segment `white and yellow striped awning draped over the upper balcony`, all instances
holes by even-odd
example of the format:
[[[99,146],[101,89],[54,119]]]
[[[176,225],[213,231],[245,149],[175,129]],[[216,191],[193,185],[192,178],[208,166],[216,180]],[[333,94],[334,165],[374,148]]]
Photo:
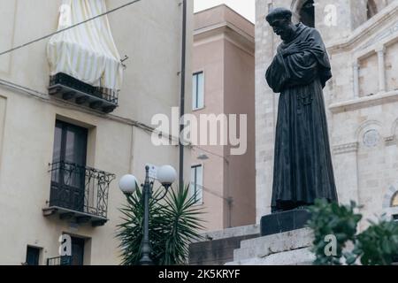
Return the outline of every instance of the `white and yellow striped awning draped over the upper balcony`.
[[[105,0],[63,0],[58,31],[105,11]],[[123,66],[106,16],[55,34],[47,55],[51,75],[66,73],[95,87],[121,88]]]

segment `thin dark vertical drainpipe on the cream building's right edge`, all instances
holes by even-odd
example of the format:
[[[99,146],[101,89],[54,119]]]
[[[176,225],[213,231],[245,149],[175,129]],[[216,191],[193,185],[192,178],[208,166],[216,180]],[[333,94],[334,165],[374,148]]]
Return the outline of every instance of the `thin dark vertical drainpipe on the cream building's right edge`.
[[[182,50],[181,50],[181,91],[180,91],[180,118],[185,114],[185,66],[187,53],[187,0],[182,0]],[[180,134],[184,126],[180,124]],[[180,143],[180,191],[184,188],[184,145]]]

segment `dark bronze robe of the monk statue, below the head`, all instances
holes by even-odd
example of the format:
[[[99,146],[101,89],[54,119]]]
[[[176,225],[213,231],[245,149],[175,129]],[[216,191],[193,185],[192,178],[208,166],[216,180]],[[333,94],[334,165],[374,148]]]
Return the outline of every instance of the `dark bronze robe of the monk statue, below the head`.
[[[332,78],[325,44],[318,31],[298,24],[291,42],[282,42],[266,80],[280,93],[275,141],[272,211],[337,202],[325,115],[323,88]],[[283,56],[291,44],[309,48]]]

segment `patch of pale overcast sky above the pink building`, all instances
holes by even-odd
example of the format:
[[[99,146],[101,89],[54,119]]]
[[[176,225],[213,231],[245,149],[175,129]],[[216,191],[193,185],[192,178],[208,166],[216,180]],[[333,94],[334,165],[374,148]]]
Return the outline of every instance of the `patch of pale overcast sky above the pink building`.
[[[255,22],[256,0],[195,0],[195,12],[203,11],[218,4],[226,4],[246,19],[249,19],[253,23]]]

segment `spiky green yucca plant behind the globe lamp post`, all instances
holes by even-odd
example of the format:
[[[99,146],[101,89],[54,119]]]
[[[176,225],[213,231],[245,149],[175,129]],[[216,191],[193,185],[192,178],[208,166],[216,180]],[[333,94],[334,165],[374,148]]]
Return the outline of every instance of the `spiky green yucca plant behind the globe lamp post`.
[[[188,244],[201,238],[203,212],[195,206],[195,196],[189,196],[189,186],[170,190],[164,201],[157,190],[149,200],[150,258],[157,265],[187,264]],[[123,223],[118,226],[122,264],[137,265],[141,259],[144,205],[142,190],[127,196],[127,204],[120,210]]]

